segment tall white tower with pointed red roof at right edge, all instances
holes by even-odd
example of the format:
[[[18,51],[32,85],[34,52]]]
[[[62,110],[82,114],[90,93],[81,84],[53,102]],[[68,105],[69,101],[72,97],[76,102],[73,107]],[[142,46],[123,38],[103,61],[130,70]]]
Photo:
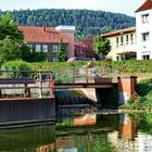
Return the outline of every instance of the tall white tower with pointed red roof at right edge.
[[[137,60],[152,59],[152,0],[136,11]]]

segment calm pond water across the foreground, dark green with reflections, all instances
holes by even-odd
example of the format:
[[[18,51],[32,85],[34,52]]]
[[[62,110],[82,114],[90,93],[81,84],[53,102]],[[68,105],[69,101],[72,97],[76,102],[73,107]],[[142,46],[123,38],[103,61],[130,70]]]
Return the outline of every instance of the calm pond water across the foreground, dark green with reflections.
[[[64,107],[55,125],[0,129],[0,152],[152,152],[152,114]]]

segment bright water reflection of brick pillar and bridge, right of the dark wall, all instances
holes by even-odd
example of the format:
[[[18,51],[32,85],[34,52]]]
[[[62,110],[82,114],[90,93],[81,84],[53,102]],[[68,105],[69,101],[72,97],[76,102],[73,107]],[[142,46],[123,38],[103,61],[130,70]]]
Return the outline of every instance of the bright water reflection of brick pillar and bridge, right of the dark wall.
[[[152,114],[67,113],[58,117],[58,152],[152,152]]]

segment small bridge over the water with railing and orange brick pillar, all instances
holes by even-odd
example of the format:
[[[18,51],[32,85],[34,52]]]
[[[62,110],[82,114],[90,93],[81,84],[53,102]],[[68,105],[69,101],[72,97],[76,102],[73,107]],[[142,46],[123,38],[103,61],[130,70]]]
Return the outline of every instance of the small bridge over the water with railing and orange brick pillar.
[[[111,91],[116,88],[119,104],[124,104],[135,94],[135,86],[137,83],[136,76],[121,77],[118,76],[119,72],[112,69],[104,69],[99,73],[94,68],[74,68],[71,71],[63,69],[54,74],[55,90],[84,89],[88,98],[97,101],[98,97],[100,97],[101,100],[102,96],[103,100],[105,96],[109,97]]]

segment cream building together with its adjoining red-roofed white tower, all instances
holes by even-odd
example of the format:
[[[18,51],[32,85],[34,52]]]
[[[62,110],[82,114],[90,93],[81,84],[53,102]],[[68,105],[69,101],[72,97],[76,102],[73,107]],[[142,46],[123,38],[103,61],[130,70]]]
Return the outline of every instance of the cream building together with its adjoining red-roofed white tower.
[[[136,27],[102,35],[111,41],[107,58],[112,60],[152,59],[152,0],[145,0],[136,11]]]

